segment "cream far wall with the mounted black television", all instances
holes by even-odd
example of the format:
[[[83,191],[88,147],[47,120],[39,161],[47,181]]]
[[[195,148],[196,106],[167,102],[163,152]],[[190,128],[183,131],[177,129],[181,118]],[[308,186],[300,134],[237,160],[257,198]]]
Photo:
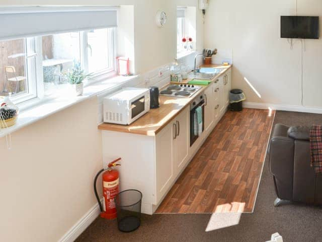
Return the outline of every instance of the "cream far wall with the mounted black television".
[[[322,16],[319,0],[297,0],[299,15]],[[212,0],[206,14],[204,46],[232,52],[233,87],[248,102],[301,105],[301,44],[280,38],[280,16],[294,15],[295,0]],[[303,104],[322,108],[322,39],[305,40]],[[260,96],[245,81],[258,91]]]

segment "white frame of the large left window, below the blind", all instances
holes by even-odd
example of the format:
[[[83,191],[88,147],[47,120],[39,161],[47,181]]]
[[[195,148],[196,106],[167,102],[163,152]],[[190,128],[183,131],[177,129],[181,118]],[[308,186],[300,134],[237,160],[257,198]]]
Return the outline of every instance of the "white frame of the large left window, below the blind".
[[[85,82],[85,86],[100,81],[102,78],[112,77],[116,75],[116,28],[108,29],[108,48],[109,48],[109,68],[93,73],[93,78]],[[88,31],[75,31],[79,33],[79,51],[81,67],[88,73],[88,47],[87,33]],[[43,66],[42,66],[42,36],[25,37],[25,69],[26,69],[26,89],[27,93],[12,96],[11,100],[15,104],[24,105],[32,101],[40,101],[44,98],[44,83],[43,83]]]

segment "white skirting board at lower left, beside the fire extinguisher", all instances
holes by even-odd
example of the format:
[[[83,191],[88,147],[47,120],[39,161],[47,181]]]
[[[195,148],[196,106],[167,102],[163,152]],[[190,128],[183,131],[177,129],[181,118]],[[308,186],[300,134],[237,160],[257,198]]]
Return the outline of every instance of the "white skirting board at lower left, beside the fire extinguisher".
[[[101,199],[103,202],[103,199]],[[73,242],[85,229],[100,215],[99,204],[94,205],[81,219],[79,219],[74,226],[72,226],[58,242]]]

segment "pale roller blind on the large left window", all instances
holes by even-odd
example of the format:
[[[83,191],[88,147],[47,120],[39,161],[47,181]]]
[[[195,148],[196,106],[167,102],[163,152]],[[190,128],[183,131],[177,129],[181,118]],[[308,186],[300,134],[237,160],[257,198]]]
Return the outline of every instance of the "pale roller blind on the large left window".
[[[75,30],[117,27],[117,11],[106,7],[0,8],[0,40]]]

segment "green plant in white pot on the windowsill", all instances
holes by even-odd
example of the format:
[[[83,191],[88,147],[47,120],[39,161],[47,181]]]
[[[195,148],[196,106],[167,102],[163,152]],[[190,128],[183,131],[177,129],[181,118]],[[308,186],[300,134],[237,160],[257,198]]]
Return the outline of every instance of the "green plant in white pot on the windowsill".
[[[92,77],[92,73],[86,74],[84,70],[81,68],[81,64],[76,63],[73,65],[71,70],[68,70],[63,74],[66,78],[67,82],[71,85],[71,92],[75,96],[79,96],[83,94],[85,79],[90,79]]]

